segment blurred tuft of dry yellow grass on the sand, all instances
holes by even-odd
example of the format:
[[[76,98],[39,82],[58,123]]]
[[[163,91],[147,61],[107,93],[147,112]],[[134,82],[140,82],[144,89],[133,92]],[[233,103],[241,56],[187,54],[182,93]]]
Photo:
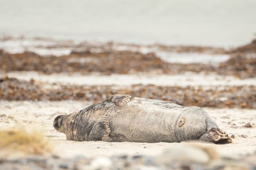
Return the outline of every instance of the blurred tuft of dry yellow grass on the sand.
[[[0,139],[0,150],[23,152],[28,155],[42,155],[52,152],[51,143],[37,129],[31,132],[26,131],[22,127],[19,129],[1,130]]]

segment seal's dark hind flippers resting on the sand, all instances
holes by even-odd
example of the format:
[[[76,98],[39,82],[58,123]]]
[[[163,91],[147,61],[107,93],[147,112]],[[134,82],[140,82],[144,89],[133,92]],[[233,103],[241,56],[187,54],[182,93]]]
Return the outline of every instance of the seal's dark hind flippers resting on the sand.
[[[205,134],[203,134],[199,140],[213,142],[216,144],[232,143],[232,139],[228,134],[221,129],[211,128]]]

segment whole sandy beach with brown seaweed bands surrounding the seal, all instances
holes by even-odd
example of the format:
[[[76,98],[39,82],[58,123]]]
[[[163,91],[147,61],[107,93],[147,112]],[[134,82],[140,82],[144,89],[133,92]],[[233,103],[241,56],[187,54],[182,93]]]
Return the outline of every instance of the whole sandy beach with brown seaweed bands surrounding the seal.
[[[160,157],[166,150],[197,143],[68,141],[52,126],[56,116],[79,111],[113,94],[200,106],[233,138],[233,143],[207,147],[232,160],[255,153],[256,58],[255,53],[243,51],[248,46],[228,51],[204,46],[145,47],[124,43],[74,45],[63,41],[63,45],[40,40],[37,47],[31,42],[18,43],[19,48],[13,48],[20,50],[17,53],[6,48],[6,41],[15,46],[15,41],[28,40],[2,41],[0,128],[40,129],[40,134],[51,142],[54,157],[72,161],[86,157],[92,162],[113,156]],[[60,46],[65,53],[59,53]]]

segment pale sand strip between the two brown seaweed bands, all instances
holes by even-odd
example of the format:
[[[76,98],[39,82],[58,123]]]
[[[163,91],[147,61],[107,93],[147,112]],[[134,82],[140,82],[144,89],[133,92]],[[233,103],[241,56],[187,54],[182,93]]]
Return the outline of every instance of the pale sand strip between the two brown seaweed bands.
[[[0,76],[10,76],[20,80],[47,83],[61,83],[69,85],[134,85],[154,84],[170,86],[239,86],[256,85],[256,78],[239,79],[234,76],[221,76],[218,74],[184,73],[184,74],[111,74],[111,75],[82,75],[79,73],[42,74],[36,71],[13,71],[0,73]]]

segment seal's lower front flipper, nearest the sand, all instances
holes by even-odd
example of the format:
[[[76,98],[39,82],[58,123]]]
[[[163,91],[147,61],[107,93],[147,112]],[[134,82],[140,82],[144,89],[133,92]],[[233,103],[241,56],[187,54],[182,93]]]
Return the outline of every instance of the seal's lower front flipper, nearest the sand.
[[[109,122],[102,121],[93,125],[92,130],[88,136],[88,141],[109,141]]]

